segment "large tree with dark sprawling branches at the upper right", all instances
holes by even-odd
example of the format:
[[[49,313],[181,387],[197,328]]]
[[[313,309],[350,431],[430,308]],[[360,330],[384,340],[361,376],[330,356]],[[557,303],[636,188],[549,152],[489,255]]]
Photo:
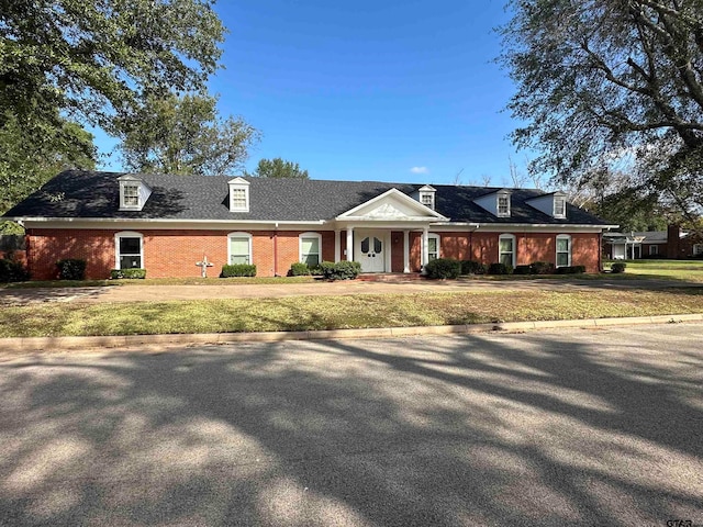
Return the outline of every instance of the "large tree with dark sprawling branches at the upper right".
[[[513,139],[535,171],[633,175],[689,216],[703,206],[703,0],[511,0],[501,61]]]

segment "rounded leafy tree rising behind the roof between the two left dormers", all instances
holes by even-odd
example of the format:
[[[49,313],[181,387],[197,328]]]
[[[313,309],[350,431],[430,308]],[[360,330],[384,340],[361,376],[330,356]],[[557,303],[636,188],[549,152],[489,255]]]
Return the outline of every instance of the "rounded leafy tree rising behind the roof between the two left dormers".
[[[123,161],[141,172],[220,175],[242,168],[259,133],[241,117],[222,119],[204,93],[147,97],[122,120]]]

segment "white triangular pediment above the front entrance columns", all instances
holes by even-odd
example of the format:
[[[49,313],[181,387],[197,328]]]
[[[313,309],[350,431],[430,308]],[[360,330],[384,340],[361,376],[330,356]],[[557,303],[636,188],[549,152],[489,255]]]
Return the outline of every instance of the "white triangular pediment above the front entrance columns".
[[[378,195],[337,216],[357,221],[447,221],[445,216],[423,205],[397,189]]]

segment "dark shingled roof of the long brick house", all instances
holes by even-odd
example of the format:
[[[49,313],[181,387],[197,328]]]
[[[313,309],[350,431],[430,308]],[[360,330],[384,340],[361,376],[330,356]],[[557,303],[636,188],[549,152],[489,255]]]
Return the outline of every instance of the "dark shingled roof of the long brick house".
[[[249,183],[248,213],[230,212],[231,176],[135,175],[152,188],[142,211],[120,211],[118,178],[125,172],[67,170],[8,211],[7,217],[98,217],[233,221],[333,220],[355,206],[398,189],[411,194],[422,184],[378,181],[326,181],[244,178]],[[571,204],[567,218],[557,220],[525,203],[538,190],[512,191],[511,217],[496,217],[473,203],[500,188],[433,184],[435,209],[453,222],[605,225],[606,222]]]

